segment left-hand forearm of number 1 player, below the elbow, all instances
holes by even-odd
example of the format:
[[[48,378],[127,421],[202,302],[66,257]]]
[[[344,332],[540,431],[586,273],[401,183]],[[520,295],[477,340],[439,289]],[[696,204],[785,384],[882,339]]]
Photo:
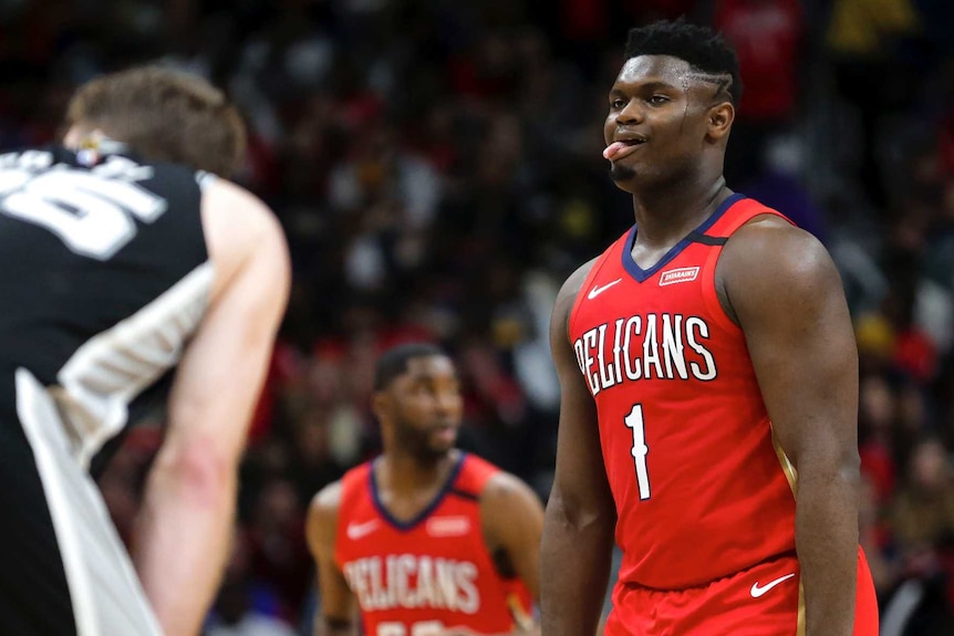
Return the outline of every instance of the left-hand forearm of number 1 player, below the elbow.
[[[547,636],[595,634],[610,576],[613,522],[597,511],[569,514],[558,493],[540,544],[540,614]]]

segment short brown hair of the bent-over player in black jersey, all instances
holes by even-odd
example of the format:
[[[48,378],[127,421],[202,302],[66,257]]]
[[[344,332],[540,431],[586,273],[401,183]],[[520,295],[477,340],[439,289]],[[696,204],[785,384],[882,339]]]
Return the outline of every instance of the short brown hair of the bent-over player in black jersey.
[[[145,160],[231,177],[246,156],[241,115],[205,79],[137,66],[91,80],[70,100],[66,128],[100,128]]]

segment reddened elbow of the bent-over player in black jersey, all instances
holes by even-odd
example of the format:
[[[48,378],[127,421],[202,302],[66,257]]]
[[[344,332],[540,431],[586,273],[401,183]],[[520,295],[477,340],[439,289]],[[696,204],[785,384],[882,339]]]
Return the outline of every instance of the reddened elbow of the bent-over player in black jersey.
[[[163,448],[154,469],[166,488],[199,507],[217,507],[235,491],[236,460],[214,440],[193,439]]]

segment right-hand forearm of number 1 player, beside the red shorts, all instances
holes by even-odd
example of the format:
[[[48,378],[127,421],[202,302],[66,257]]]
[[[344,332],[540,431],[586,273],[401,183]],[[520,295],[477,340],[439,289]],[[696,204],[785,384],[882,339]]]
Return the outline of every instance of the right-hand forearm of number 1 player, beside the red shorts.
[[[858,582],[858,475],[799,468],[796,549],[806,636],[850,636]]]

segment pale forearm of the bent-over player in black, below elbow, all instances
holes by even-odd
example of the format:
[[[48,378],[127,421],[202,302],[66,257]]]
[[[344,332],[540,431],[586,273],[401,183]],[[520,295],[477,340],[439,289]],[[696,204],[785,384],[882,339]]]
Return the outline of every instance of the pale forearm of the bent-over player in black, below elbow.
[[[166,636],[195,636],[218,588],[237,476],[211,457],[160,451],[138,519],[134,562]]]

